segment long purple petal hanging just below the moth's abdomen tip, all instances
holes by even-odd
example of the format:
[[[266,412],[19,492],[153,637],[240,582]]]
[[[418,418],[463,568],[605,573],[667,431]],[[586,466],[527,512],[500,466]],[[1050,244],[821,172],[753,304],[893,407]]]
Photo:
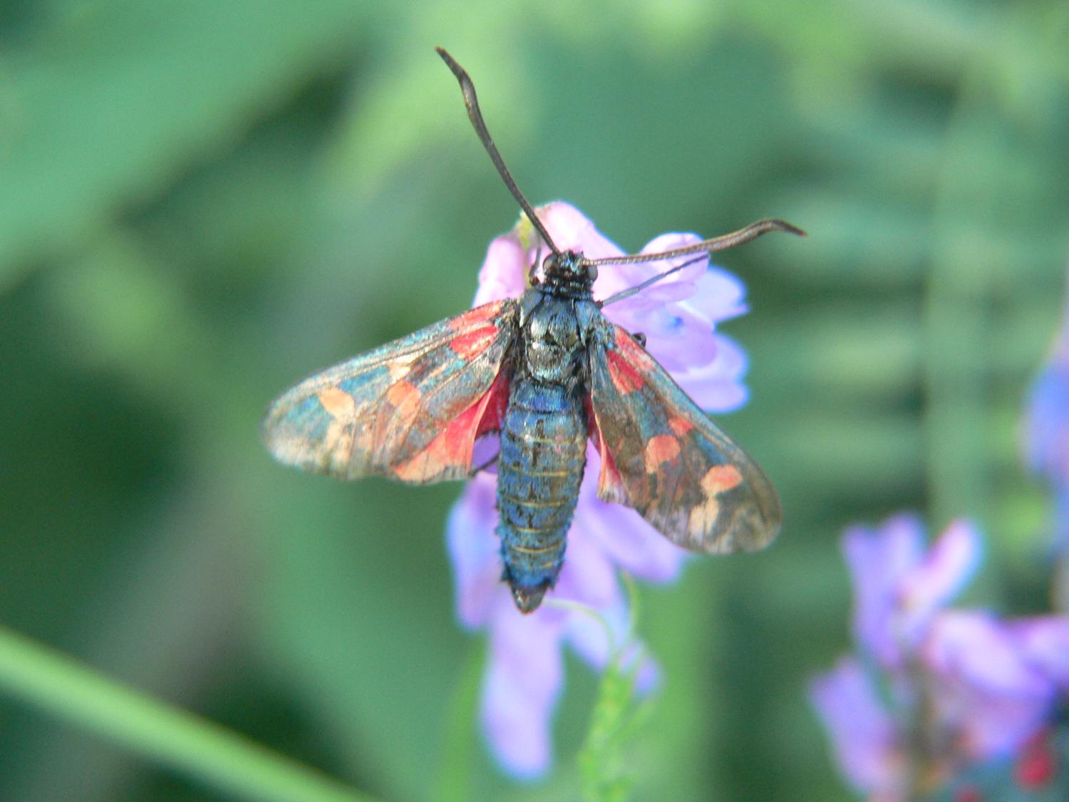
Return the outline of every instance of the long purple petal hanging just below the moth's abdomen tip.
[[[491,623],[482,722],[490,747],[512,775],[531,780],[553,761],[551,720],[563,682],[562,627],[500,605]]]

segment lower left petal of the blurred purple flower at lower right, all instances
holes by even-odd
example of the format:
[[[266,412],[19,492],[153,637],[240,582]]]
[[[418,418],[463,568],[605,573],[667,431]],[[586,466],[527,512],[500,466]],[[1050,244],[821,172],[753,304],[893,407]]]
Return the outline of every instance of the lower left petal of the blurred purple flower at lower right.
[[[841,659],[812,681],[809,697],[851,784],[864,792],[898,799],[905,781],[898,734],[861,663]]]

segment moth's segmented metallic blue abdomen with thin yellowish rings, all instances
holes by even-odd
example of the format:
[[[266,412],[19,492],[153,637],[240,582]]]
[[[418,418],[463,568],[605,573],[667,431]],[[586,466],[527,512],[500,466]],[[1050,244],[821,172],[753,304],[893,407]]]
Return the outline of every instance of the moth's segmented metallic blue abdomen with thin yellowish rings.
[[[501,429],[497,506],[503,579],[529,613],[557,581],[586,464],[586,412],[559,385],[514,381]]]

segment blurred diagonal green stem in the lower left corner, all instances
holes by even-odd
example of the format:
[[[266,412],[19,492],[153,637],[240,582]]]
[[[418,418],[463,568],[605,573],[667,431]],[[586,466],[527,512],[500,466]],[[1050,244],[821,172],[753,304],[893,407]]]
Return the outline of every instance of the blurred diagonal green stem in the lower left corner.
[[[368,800],[334,778],[0,627],[0,692],[242,799]]]

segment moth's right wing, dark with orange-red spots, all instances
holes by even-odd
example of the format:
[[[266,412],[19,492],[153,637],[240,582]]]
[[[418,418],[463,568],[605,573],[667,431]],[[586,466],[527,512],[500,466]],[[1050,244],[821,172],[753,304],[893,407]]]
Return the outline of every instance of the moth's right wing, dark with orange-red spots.
[[[779,531],[772,483],[626,331],[595,324],[590,346],[598,495],[678,545],[753,551]]]

